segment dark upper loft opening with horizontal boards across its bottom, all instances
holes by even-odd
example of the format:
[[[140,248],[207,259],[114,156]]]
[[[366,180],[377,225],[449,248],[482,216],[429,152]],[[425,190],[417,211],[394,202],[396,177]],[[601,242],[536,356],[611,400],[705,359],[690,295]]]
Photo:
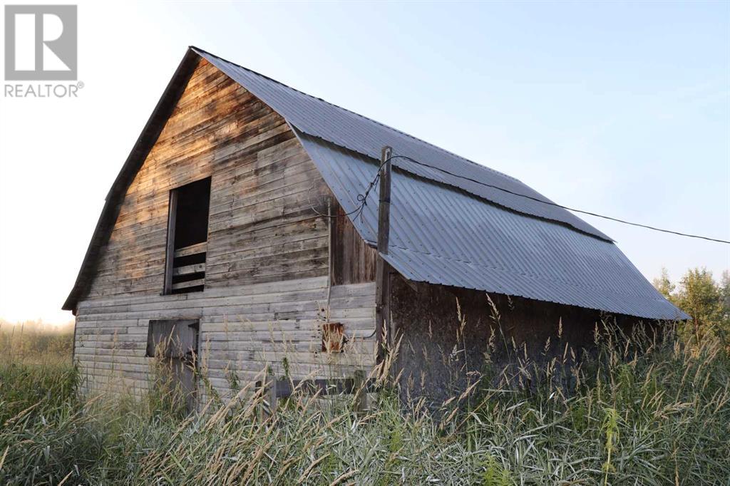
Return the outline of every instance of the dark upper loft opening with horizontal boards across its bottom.
[[[170,191],[164,293],[205,287],[210,177]]]

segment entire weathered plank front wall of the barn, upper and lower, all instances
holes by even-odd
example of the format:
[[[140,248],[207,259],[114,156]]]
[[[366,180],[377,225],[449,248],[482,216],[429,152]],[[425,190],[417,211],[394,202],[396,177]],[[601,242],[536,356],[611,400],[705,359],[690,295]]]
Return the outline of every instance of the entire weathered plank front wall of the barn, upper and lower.
[[[169,190],[212,177],[205,289],[161,295]],[[331,196],[280,115],[201,61],[127,190],[88,295],[77,309],[75,355],[91,387],[144,390],[153,319],[199,319],[201,367],[219,390],[267,364],[295,376],[352,374],[372,364],[374,284],[331,292],[347,352],[322,355]],[[334,366],[326,366],[334,363]]]

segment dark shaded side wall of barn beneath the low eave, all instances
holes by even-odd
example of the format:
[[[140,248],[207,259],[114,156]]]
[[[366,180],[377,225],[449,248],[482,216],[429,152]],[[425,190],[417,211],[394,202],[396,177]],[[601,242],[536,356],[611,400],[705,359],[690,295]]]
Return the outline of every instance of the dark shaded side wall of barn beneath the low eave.
[[[402,370],[401,393],[426,396],[432,404],[461,393],[481,374],[495,382],[508,377],[520,383],[521,364],[561,360],[566,344],[568,360],[571,349],[580,360],[594,350],[596,324],[602,318],[623,332],[638,322],[528,298],[409,284],[397,276],[391,282],[391,316],[401,337],[396,365]],[[487,352],[490,363],[485,364]],[[530,385],[529,377],[521,379],[522,385]]]

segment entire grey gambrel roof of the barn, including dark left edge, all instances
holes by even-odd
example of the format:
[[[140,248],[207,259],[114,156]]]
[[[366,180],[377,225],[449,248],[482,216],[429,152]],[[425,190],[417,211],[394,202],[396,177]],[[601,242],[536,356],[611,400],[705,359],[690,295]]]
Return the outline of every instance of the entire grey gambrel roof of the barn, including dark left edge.
[[[561,207],[543,204],[551,201],[519,180],[196,47],[185,55],[145,128],[149,133],[140,136],[107,196],[104,213],[110,215],[102,214],[64,309],[74,309],[91,279],[95,252],[116,217],[107,207],[124,197],[199,58],[285,118],[345,212],[358,207],[357,196],[377,173],[384,145],[420,162],[393,159],[391,238],[383,257],[407,279],[650,319],[688,318],[608,236]],[[372,246],[377,200],[375,188],[362,214],[350,216]]]

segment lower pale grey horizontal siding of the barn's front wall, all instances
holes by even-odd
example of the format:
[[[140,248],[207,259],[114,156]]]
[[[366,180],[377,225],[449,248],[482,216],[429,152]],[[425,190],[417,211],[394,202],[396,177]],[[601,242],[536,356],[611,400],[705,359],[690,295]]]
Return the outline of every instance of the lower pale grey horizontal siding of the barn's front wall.
[[[83,301],[77,315],[76,358],[88,385],[145,390],[152,358],[145,358],[153,319],[199,319],[201,369],[224,393],[228,372],[255,380],[267,365],[293,377],[351,377],[372,366],[374,284],[332,289],[331,320],[345,323],[350,342],[340,354],[320,352],[319,324],[327,301],[326,277],[228,286],[177,296],[126,296]],[[260,377],[259,377],[260,378]]]

